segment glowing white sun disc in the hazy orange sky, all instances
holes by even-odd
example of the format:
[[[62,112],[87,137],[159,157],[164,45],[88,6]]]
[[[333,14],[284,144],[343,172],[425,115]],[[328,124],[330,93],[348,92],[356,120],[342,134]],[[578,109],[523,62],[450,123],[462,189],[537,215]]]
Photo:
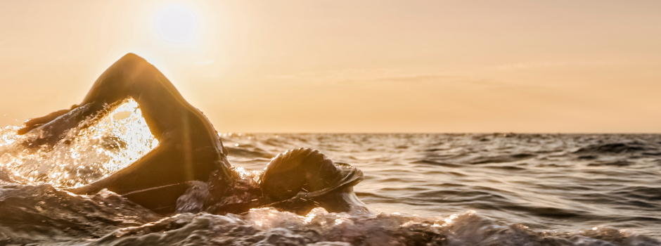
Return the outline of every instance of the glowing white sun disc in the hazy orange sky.
[[[158,36],[171,44],[191,43],[195,39],[198,20],[190,9],[181,5],[162,8],[156,15]]]

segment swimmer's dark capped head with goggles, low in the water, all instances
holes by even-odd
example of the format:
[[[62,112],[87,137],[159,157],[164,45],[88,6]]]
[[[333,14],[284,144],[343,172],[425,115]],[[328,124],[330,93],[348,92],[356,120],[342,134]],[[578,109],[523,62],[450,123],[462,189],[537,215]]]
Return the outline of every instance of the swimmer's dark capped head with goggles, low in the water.
[[[297,148],[271,160],[264,171],[262,190],[280,205],[274,207],[299,214],[314,207],[348,212],[356,201],[363,205],[352,188],[362,179],[362,172],[349,164],[336,164],[319,150]]]

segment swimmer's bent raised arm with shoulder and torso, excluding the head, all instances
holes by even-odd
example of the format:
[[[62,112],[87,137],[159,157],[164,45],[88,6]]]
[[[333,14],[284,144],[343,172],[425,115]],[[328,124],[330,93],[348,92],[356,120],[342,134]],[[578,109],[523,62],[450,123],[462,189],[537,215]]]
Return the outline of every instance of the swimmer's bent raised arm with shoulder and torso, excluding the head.
[[[231,165],[209,120],[184,100],[156,67],[132,53],[108,67],[79,106],[30,119],[20,133],[39,130],[41,134],[32,138],[31,144],[54,145],[68,129],[79,127],[83,121],[94,124],[127,98],[138,103],[151,133],[159,141],[158,146],[128,167],[87,186],[71,189],[72,192],[96,193],[108,188],[126,194],[173,183],[206,181],[215,170],[227,176]],[[176,201],[179,195],[170,196]],[[160,196],[172,200],[167,194]]]

